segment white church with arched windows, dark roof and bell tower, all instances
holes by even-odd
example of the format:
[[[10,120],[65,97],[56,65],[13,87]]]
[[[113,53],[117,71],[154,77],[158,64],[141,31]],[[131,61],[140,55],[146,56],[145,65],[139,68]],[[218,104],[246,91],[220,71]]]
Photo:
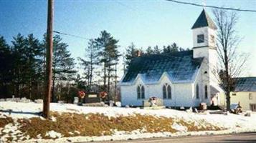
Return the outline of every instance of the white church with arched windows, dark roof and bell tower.
[[[142,106],[150,97],[168,107],[198,107],[220,103],[217,76],[216,31],[205,10],[192,26],[193,49],[171,54],[138,56],[131,61],[120,85],[122,105]]]

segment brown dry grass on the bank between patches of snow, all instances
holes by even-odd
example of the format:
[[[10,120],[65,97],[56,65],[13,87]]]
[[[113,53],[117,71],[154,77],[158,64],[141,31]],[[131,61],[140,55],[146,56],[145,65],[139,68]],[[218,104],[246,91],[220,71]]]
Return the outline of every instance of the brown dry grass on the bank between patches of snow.
[[[136,129],[143,132],[177,132],[171,127],[174,119],[167,117],[153,117],[150,115],[135,114],[128,117],[107,117],[103,114],[71,114],[57,112],[51,113],[57,119],[56,122],[50,120],[42,120],[40,118],[19,119],[22,124],[20,130],[32,138],[37,138],[41,134],[42,138],[49,139],[45,134],[51,130],[60,132],[64,137],[80,136],[102,136],[113,134],[113,130],[132,132]],[[201,123],[207,124],[204,120]],[[212,124],[203,126],[195,122],[186,122],[178,120],[176,123],[186,126],[188,131],[207,131],[219,130]],[[78,134],[77,132],[80,132]],[[72,132],[73,134],[70,134]]]

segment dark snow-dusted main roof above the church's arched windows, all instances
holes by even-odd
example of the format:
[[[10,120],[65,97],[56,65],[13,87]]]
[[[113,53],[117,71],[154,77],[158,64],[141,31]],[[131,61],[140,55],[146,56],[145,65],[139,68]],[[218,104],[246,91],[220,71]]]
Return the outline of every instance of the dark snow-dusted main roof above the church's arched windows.
[[[193,51],[152,54],[131,61],[121,83],[131,84],[140,76],[145,84],[154,84],[166,73],[173,83],[194,82],[202,58],[193,59]]]

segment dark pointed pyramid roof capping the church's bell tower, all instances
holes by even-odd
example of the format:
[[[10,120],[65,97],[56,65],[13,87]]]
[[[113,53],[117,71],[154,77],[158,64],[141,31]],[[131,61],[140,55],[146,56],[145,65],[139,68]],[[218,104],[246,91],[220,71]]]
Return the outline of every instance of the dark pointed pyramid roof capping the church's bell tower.
[[[196,22],[191,29],[196,29],[204,26],[209,26],[211,29],[217,29],[217,26],[214,24],[214,21],[210,18],[207,12],[203,9],[199,17],[196,19]]]

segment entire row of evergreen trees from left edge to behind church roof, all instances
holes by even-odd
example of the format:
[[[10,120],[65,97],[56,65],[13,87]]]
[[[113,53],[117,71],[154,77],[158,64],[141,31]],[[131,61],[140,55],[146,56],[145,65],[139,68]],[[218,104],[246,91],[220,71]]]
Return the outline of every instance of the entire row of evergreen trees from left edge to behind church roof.
[[[75,59],[68,50],[68,44],[60,35],[53,37],[52,102],[72,102],[77,92],[108,92],[108,100],[118,99],[118,63],[120,51],[118,40],[107,31],[101,31],[95,39],[88,41],[85,55]],[[0,96],[1,98],[27,97],[42,99],[44,96],[44,74],[46,36],[36,38],[33,34],[17,34],[7,44],[0,36]],[[184,51],[176,43],[163,46],[148,46],[143,51],[131,43],[123,54],[127,68],[137,51],[141,54],[164,54]],[[187,50],[187,49],[186,49]]]

